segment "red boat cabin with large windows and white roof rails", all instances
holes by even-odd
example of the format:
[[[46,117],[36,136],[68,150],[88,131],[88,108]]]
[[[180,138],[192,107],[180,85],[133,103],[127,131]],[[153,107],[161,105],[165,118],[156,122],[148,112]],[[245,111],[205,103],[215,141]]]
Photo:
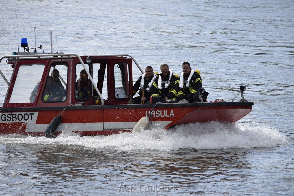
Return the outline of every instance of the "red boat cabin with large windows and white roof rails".
[[[3,108],[120,105],[133,96],[130,55],[12,54],[2,57],[13,68],[10,82],[0,71],[9,85]]]

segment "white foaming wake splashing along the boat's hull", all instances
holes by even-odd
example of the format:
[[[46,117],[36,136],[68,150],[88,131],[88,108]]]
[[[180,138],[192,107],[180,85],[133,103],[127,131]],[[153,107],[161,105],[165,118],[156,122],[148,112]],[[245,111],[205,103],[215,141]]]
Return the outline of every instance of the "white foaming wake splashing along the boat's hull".
[[[83,136],[64,132],[57,138],[24,135],[1,135],[0,143],[78,145],[93,149],[117,150],[181,150],[271,148],[287,145],[285,135],[267,126],[244,123],[191,123],[170,130],[150,129],[137,133],[108,136]]]

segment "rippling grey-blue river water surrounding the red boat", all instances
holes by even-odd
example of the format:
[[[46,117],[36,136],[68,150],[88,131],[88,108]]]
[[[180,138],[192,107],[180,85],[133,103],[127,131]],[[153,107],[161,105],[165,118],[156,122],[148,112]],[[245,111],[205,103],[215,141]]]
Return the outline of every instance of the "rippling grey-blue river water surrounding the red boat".
[[[245,99],[255,102],[235,124],[56,139],[1,135],[1,195],[294,195],[293,1],[0,5],[1,56],[16,52],[23,37],[34,47],[36,26],[44,51],[52,30],[54,52],[128,53],[141,67],[159,71],[167,63],[178,74],[188,61],[201,71],[208,100],[235,98],[245,85]],[[0,103],[6,90],[2,79]]]

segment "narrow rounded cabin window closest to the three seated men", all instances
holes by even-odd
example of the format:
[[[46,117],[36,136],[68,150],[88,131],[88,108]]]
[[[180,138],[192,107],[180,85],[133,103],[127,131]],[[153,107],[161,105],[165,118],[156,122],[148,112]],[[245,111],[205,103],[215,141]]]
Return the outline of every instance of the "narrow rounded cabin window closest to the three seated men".
[[[117,63],[114,65],[114,95],[117,99],[128,98],[129,82],[128,82],[128,64]]]

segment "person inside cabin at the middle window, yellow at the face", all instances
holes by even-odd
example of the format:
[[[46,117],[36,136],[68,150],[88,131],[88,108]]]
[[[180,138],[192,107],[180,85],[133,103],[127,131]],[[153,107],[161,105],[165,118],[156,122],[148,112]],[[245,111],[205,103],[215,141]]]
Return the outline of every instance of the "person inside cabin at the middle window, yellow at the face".
[[[84,100],[90,98],[90,80],[88,77],[84,69],[80,71],[80,79],[76,82],[77,99]]]

